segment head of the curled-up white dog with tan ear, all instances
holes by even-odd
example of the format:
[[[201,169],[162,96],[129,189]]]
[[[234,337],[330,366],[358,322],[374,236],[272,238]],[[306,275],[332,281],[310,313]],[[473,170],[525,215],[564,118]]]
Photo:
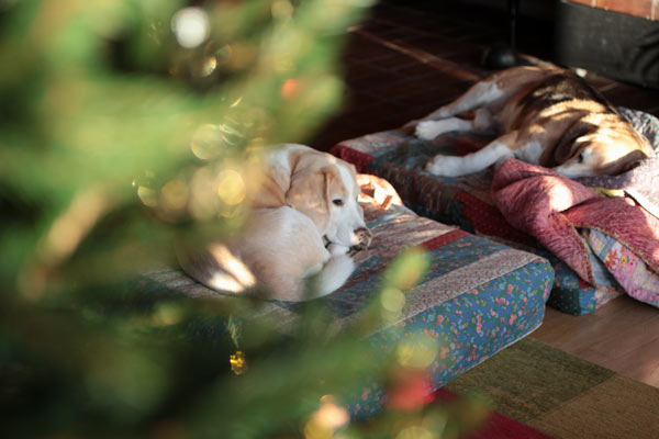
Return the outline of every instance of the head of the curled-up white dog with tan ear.
[[[328,244],[367,247],[371,234],[357,202],[360,190],[355,167],[311,148],[303,149],[291,161],[286,203],[309,216]]]

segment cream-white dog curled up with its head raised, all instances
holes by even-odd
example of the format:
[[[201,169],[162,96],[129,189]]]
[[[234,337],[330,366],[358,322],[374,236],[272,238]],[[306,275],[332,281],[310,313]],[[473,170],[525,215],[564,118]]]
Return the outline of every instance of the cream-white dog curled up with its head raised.
[[[294,144],[269,151],[265,162],[265,183],[243,233],[202,249],[179,243],[179,262],[219,291],[284,301],[330,294],[355,269],[349,250],[370,243],[355,167]]]

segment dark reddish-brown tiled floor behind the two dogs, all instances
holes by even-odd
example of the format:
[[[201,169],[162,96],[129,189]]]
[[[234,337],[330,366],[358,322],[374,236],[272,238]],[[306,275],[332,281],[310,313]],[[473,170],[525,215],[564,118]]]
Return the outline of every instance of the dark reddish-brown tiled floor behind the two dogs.
[[[549,60],[551,24],[524,15],[518,23],[520,52]],[[490,44],[506,41],[505,11],[450,1],[381,0],[349,31],[344,109],[310,144],[328,150],[339,140],[429,113],[490,74],[482,66],[484,53]],[[614,104],[659,115],[659,91],[588,78]]]

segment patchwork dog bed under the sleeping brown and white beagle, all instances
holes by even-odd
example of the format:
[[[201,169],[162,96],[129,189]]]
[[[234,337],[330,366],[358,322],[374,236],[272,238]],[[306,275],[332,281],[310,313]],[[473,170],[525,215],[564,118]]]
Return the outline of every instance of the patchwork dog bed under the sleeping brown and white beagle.
[[[646,135],[656,149],[659,149],[659,121],[656,117],[639,111],[618,110]],[[487,169],[458,178],[435,177],[423,170],[424,164],[437,153],[465,155],[487,144],[490,138],[474,134],[447,133],[426,142],[413,136],[412,131],[413,127],[409,124],[398,130],[368,134],[335,145],[332,153],[356,165],[360,172],[375,173],[389,180],[405,204],[420,215],[457,225],[470,233],[501,239],[507,245],[535,251],[549,259],[556,278],[548,304],[562,312],[573,315],[588,314],[624,293],[659,306],[656,260],[648,259],[647,254],[636,251],[629,241],[622,240],[616,233],[595,226],[579,229],[573,227],[574,230],[581,232],[579,239],[584,249],[581,254],[582,263],[590,268],[589,275],[584,275],[583,272],[574,270],[573,261],[561,259],[560,255],[548,251],[529,230],[511,225],[511,218],[506,218],[492,198],[494,170]],[[648,181],[647,178],[645,180]],[[587,183],[597,188],[604,187],[604,192],[608,194],[624,195],[623,199],[643,209],[636,201],[629,201],[630,191],[615,187],[614,181]],[[613,185],[606,188],[606,183]],[[648,189],[648,184],[651,185],[646,183],[645,189]],[[645,206],[647,207],[647,204]],[[647,212],[650,211],[651,209]],[[509,214],[511,212],[514,210],[510,210]],[[644,235],[640,232],[636,238],[657,239],[657,234]],[[624,259],[621,258],[621,251],[624,251]]]

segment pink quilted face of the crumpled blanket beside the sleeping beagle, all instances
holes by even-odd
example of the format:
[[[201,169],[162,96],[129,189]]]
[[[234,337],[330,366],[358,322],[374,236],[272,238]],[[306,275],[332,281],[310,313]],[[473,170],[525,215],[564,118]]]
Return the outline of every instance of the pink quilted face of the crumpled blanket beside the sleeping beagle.
[[[549,169],[507,159],[494,173],[492,196],[506,221],[536,237],[584,281],[595,284],[578,228],[603,232],[659,272],[659,219],[630,198],[604,198]]]

